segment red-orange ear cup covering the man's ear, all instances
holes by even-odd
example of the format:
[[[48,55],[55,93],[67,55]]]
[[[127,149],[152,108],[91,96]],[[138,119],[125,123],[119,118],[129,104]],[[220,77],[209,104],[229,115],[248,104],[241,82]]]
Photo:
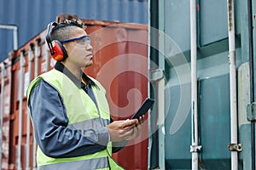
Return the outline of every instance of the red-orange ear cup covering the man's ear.
[[[56,61],[64,61],[65,59],[67,59],[67,51],[63,47],[61,42],[54,40],[52,42],[52,45],[54,51],[54,54],[52,54],[53,59],[55,59]]]

